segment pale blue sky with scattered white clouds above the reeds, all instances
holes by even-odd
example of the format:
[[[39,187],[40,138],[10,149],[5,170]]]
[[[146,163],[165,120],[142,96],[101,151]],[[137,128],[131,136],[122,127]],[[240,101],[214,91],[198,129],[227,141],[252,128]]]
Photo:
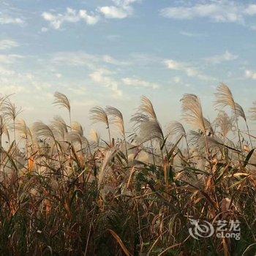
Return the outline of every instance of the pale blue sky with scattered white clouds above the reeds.
[[[29,122],[65,116],[55,91],[85,127],[95,105],[128,122],[142,95],[167,124],[182,95],[197,94],[212,121],[219,83],[247,113],[255,57],[255,1],[0,0],[0,93]]]

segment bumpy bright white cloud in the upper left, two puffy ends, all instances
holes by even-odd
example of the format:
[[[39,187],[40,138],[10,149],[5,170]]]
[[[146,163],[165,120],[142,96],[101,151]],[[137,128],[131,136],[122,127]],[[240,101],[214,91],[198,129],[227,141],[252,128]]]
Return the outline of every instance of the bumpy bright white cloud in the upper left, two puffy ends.
[[[47,20],[50,23],[50,26],[53,29],[60,29],[63,23],[77,23],[80,20],[83,20],[88,25],[94,25],[99,21],[99,17],[97,15],[89,15],[86,10],[73,10],[72,8],[67,8],[64,14],[61,13],[51,13],[51,12],[43,12],[42,18]]]

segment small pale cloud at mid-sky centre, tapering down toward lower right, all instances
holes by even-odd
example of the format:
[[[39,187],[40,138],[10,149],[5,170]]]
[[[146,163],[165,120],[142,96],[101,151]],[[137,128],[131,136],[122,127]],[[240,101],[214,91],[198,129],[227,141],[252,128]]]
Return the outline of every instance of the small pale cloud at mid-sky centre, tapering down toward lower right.
[[[97,69],[92,72],[89,76],[94,83],[103,85],[113,92],[113,97],[119,98],[123,95],[122,91],[118,89],[119,82],[111,77],[113,72],[108,69]]]

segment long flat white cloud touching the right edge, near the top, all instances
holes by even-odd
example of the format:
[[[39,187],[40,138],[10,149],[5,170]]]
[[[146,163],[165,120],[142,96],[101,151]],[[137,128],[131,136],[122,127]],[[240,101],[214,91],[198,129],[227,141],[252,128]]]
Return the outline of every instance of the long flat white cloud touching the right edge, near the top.
[[[256,15],[256,4],[239,4],[238,1],[215,1],[192,6],[167,7],[160,11],[166,18],[192,20],[209,18],[214,22],[243,23],[246,16]]]

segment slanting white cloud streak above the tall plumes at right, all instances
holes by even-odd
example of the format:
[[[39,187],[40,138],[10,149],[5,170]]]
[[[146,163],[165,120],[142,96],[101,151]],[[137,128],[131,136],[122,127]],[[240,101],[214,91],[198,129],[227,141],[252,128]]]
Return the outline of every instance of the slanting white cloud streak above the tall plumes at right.
[[[189,77],[195,77],[200,80],[214,80],[214,78],[211,78],[208,75],[204,75],[199,70],[195,69],[194,67],[191,67],[190,64],[174,61],[173,59],[167,59],[166,61],[164,61],[164,63],[167,69],[185,72]]]

